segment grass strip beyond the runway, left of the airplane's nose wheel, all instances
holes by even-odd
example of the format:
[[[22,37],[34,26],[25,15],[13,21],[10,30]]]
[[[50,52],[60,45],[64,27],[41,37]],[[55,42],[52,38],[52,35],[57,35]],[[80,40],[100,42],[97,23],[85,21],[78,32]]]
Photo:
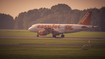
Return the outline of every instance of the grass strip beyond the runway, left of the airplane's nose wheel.
[[[35,36],[36,34],[28,30],[0,30],[0,36]]]

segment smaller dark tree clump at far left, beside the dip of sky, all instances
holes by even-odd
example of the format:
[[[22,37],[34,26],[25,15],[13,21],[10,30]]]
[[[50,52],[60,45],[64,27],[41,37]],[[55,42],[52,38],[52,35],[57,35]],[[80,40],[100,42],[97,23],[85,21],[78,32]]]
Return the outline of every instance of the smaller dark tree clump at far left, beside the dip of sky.
[[[12,16],[0,14],[0,29],[14,29],[15,21]]]

